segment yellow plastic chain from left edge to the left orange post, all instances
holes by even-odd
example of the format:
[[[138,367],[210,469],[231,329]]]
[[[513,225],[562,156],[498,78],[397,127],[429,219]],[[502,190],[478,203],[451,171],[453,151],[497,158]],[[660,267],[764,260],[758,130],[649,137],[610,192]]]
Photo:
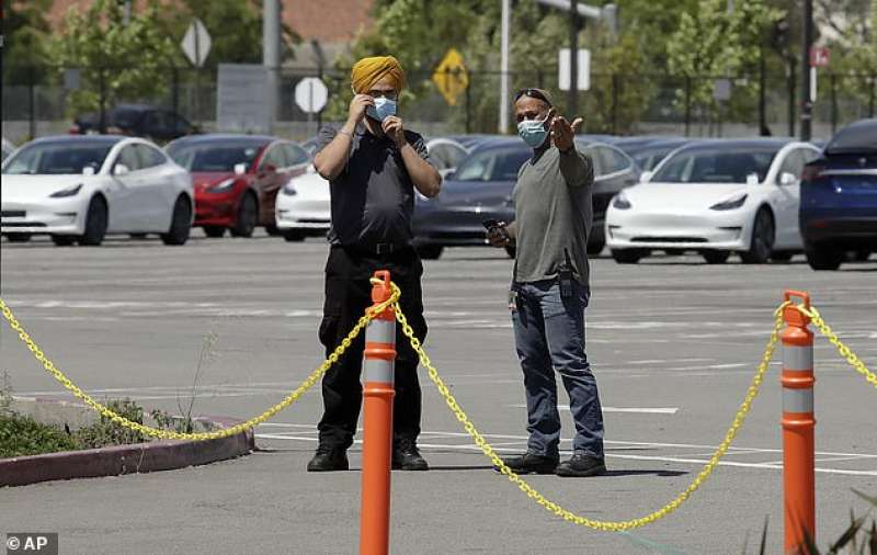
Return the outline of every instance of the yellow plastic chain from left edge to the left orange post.
[[[253,428],[255,426],[259,426],[260,423],[262,423],[265,420],[272,418],[274,415],[276,415],[281,410],[285,409],[286,407],[288,407],[289,405],[292,405],[296,400],[298,400],[298,398],[305,392],[307,392],[308,389],[314,387],[314,385],[317,384],[317,382],[320,380],[320,377],[322,377],[322,375],[329,370],[329,367],[332,364],[338,362],[338,360],[341,358],[341,355],[344,354],[344,351],[346,351],[350,348],[351,343],[356,338],[356,336],[358,336],[360,332],[362,332],[362,330],[368,325],[369,321],[372,321],[375,318],[375,316],[378,313],[384,312],[387,307],[389,307],[389,306],[391,306],[391,305],[394,305],[395,303],[398,302],[399,295],[400,295],[400,293],[399,293],[398,287],[394,288],[392,295],[390,295],[389,299],[387,299],[386,302],[384,302],[384,303],[381,303],[381,304],[379,304],[379,305],[377,305],[375,307],[369,307],[366,310],[365,315],[362,318],[360,318],[360,321],[356,322],[356,326],[354,326],[353,329],[350,331],[350,333],[348,333],[348,337],[345,337],[341,341],[341,343],[338,346],[338,348],[334,350],[334,352],[332,352],[332,354],[330,354],[329,358],[326,359],[323,361],[323,363],[320,364],[319,367],[317,367],[317,370],[311,372],[310,375],[307,378],[305,378],[304,382],[301,382],[301,385],[299,385],[296,389],[294,389],[292,393],[289,393],[282,401],[280,401],[278,404],[276,404],[273,407],[269,408],[267,410],[265,410],[261,415],[247,420],[246,422],[241,422],[241,423],[232,426],[230,428],[224,428],[221,430],[216,430],[216,431],[212,431],[212,432],[203,432],[203,433],[180,433],[180,432],[175,432],[175,431],[172,431],[172,430],[161,430],[159,428],[152,428],[152,427],[149,427],[149,426],[145,426],[145,424],[141,424],[139,422],[135,422],[133,420],[129,420],[129,419],[123,417],[122,415],[113,411],[106,405],[102,405],[101,403],[94,400],[94,398],[92,398],[89,394],[87,394],[81,388],[79,388],[79,386],[73,384],[70,381],[70,378],[68,378],[64,374],[64,372],[58,370],[55,366],[55,364],[50,360],[48,360],[46,358],[46,355],[43,353],[43,351],[39,349],[39,347],[33,341],[33,339],[31,339],[31,336],[29,336],[27,332],[24,330],[22,325],[19,324],[19,320],[15,319],[15,316],[12,314],[12,310],[9,308],[9,306],[7,306],[5,302],[3,302],[2,298],[0,298],[0,309],[3,310],[3,317],[9,322],[9,327],[12,328],[12,330],[15,333],[19,335],[19,338],[21,338],[21,340],[24,341],[27,344],[27,349],[30,349],[31,352],[34,353],[34,358],[37,361],[39,361],[41,364],[43,364],[43,367],[46,369],[46,371],[49,374],[52,374],[55,377],[55,380],[60,382],[61,385],[64,385],[64,387],[69,389],[73,394],[73,396],[76,396],[79,399],[82,399],[82,401],[86,405],[88,405],[92,409],[96,410],[102,416],[109,418],[110,420],[112,420],[113,422],[115,422],[115,423],[117,423],[119,426],[124,426],[125,428],[130,428],[132,430],[136,430],[136,431],[138,431],[138,432],[140,432],[143,434],[150,435],[152,438],[160,438],[160,439],[164,439],[164,440],[197,440],[197,441],[203,441],[203,440],[215,440],[215,439],[218,439],[218,438],[226,438],[228,435],[235,435],[235,434],[241,433],[241,432],[243,432],[246,430],[249,430],[249,429],[251,429],[251,428]]]

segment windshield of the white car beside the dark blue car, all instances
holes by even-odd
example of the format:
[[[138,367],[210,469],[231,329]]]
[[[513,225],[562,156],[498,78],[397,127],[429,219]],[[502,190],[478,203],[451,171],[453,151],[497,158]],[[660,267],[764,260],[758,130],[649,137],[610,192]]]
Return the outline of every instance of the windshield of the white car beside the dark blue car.
[[[764,181],[778,145],[708,145],[680,150],[651,178],[656,183],[747,183]]]

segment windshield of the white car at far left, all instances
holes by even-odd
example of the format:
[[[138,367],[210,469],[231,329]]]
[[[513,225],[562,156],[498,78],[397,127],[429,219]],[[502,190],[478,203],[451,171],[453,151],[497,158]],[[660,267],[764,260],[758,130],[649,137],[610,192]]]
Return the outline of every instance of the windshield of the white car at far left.
[[[50,175],[77,174],[86,171],[96,173],[114,144],[34,143],[7,160],[3,173]]]

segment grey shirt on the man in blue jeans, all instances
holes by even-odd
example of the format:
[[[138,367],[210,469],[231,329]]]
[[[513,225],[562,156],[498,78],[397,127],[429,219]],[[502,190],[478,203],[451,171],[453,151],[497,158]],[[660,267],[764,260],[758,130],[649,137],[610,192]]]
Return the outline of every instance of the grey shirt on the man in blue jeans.
[[[576,279],[589,285],[586,245],[593,220],[593,184],[594,165],[576,149],[560,152],[548,146],[521,167],[514,188],[515,281],[556,278],[566,249]]]

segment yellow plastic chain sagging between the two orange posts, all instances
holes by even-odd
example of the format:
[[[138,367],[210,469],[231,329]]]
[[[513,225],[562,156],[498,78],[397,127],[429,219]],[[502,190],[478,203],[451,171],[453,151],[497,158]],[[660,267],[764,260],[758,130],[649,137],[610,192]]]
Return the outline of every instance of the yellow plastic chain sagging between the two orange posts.
[[[394,292],[397,292],[396,284],[394,284]],[[749,385],[749,389],[747,390],[747,395],[743,398],[743,403],[740,404],[740,409],[737,411],[737,415],[733,418],[733,423],[728,429],[728,432],[725,434],[725,439],[721,441],[719,446],[713,453],[713,456],[709,457],[709,462],[704,465],[703,469],[697,474],[697,477],[694,478],[694,482],[685,488],[680,495],[677,495],[672,501],[667,503],[665,506],[661,507],[654,512],[646,514],[645,517],[640,517],[638,519],[631,520],[622,520],[622,521],[605,521],[605,520],[593,520],[586,517],[582,517],[576,514],[574,512],[560,507],[558,503],[554,501],[549,501],[545,498],[539,491],[537,491],[533,486],[527,484],[521,476],[515,474],[509,466],[502,462],[502,458],[493,451],[493,448],[485,440],[483,435],[476,430],[475,424],[469,420],[469,417],[466,416],[466,412],[457,405],[457,400],[454,398],[454,395],[447,388],[445,383],[438,376],[438,372],[435,370],[435,366],[432,365],[430,358],[426,355],[426,352],[420,344],[420,340],[414,337],[414,330],[408,324],[402,312],[399,309],[398,305],[394,305],[396,309],[396,319],[399,320],[399,324],[402,326],[402,331],[411,341],[411,347],[417,351],[418,355],[420,356],[420,362],[423,366],[429,371],[430,378],[433,381],[435,386],[438,388],[438,393],[442,394],[444,397],[445,403],[451,408],[451,410],[456,415],[457,420],[463,424],[463,428],[466,432],[472,438],[475,444],[481,449],[485,455],[490,458],[494,466],[497,466],[502,474],[504,474],[509,480],[516,485],[521,491],[527,495],[528,498],[536,501],[539,506],[544,507],[545,510],[553,512],[557,517],[561,517],[563,520],[568,522],[572,522],[573,524],[578,524],[581,526],[588,526],[596,530],[604,530],[610,532],[620,532],[625,530],[633,530],[635,528],[645,526],[651,522],[654,522],[663,517],[667,517],[674,510],[679,508],[688,496],[691,496],[697,488],[699,488],[704,482],[713,474],[713,471],[719,463],[719,460],[728,452],[728,448],[730,448],[731,442],[733,441],[737,432],[739,431],[740,427],[743,424],[743,420],[749,412],[749,409],[752,405],[752,400],[759,394],[759,389],[761,388],[761,384],[764,380],[764,374],[767,372],[767,367],[771,363],[771,359],[774,354],[774,348],[776,347],[777,339],[779,337],[779,329],[783,327],[783,308],[788,306],[789,303],[784,303],[776,309],[774,313],[774,329],[771,332],[771,339],[767,341],[767,347],[764,349],[764,354],[762,355],[761,363],[759,364],[759,369],[755,372],[755,375],[752,377],[752,382]]]

